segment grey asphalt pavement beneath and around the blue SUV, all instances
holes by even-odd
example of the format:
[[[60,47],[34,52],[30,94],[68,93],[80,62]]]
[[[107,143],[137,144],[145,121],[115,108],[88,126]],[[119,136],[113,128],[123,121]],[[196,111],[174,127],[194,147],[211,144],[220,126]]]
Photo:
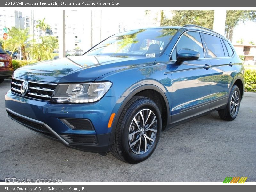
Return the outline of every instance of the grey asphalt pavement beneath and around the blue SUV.
[[[162,132],[153,155],[126,164],[110,153],[101,156],[67,148],[11,120],[0,84],[0,180],[62,181],[223,181],[244,176],[256,181],[256,93],[245,93],[232,122],[212,112]]]

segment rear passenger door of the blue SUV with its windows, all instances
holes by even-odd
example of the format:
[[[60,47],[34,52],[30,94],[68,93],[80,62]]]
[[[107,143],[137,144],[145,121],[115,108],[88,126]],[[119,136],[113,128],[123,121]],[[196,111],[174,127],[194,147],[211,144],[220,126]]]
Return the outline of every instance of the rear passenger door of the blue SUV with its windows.
[[[212,65],[212,82],[210,110],[227,104],[229,86],[233,79],[232,55],[233,49],[229,43],[222,38],[203,33],[208,58]],[[228,49],[227,47],[228,46]]]

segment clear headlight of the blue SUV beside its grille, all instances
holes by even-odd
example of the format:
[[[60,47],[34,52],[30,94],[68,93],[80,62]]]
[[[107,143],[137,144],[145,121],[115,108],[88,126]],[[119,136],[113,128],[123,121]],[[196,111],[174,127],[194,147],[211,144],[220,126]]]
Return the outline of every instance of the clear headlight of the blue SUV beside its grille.
[[[51,102],[92,103],[100,100],[111,87],[111,82],[58,84]]]

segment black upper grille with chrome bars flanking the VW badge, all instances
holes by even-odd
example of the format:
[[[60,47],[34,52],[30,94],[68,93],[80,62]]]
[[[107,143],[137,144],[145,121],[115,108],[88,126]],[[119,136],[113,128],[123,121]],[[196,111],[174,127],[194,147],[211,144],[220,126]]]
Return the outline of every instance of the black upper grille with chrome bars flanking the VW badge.
[[[20,88],[23,81],[25,79],[12,77],[11,91],[21,95]],[[49,101],[56,86],[57,84],[53,83],[28,80],[28,92],[24,96]]]

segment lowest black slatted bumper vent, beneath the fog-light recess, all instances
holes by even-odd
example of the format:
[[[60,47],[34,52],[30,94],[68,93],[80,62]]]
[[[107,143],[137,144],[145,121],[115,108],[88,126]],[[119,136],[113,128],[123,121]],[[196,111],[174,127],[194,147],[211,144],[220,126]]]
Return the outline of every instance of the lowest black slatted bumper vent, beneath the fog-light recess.
[[[61,134],[61,136],[72,144],[95,144],[97,143],[95,135],[75,135],[75,134]]]

